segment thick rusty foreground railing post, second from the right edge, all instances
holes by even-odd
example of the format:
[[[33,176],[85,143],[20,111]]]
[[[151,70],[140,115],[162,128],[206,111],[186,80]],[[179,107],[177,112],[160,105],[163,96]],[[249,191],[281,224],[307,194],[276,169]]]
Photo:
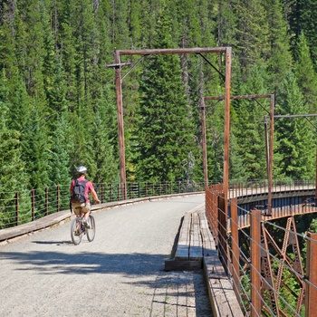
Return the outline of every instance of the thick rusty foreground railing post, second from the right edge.
[[[251,317],[261,316],[261,210],[253,209],[251,216]]]

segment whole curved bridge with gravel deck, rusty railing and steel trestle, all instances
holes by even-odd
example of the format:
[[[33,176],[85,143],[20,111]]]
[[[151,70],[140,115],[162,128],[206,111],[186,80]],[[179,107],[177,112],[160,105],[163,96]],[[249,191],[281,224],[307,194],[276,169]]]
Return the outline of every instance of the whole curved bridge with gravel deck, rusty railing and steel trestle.
[[[221,184],[103,202],[93,207],[96,240],[79,246],[71,243],[69,210],[4,228],[0,312],[314,316],[317,239],[298,234],[295,217],[316,212],[315,186],[271,189],[270,209],[262,183],[231,184],[227,204]]]

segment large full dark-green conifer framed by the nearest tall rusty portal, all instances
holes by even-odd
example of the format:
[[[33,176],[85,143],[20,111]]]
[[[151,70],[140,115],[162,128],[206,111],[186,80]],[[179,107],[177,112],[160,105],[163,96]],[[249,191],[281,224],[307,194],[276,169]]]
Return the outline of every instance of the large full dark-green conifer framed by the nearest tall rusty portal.
[[[172,41],[166,11],[158,24],[156,46],[169,48]],[[152,181],[181,179],[185,172],[182,161],[193,147],[193,134],[179,58],[158,54],[150,56],[145,65],[140,84],[137,175]]]

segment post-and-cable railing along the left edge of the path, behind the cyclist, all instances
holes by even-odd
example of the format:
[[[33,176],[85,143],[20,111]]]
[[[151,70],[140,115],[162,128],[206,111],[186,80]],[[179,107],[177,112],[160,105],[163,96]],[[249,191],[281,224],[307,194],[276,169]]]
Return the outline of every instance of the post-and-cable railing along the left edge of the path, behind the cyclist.
[[[102,203],[204,191],[204,182],[160,181],[156,183],[93,184]],[[122,193],[126,192],[126,197]],[[92,200],[93,204],[93,200]],[[70,185],[0,193],[0,229],[19,226],[70,209]]]

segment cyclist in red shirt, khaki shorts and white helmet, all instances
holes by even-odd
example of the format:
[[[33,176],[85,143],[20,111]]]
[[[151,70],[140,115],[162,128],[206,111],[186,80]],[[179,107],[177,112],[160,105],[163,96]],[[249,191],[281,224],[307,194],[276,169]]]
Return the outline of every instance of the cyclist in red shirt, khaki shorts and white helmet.
[[[78,173],[78,178],[77,180],[79,182],[85,181],[86,180],[86,173],[87,173],[87,168],[85,167],[79,167],[77,168],[77,173]],[[72,194],[72,188],[74,187],[75,184],[75,179],[72,180],[71,183],[71,194]],[[85,186],[85,198],[86,201],[84,203],[79,203],[79,202],[73,202],[71,200],[72,203],[72,210],[73,212],[76,214],[76,216],[80,216],[81,215],[81,211],[84,214],[83,216],[83,225],[86,227],[90,227],[89,224],[89,216],[91,214],[91,202],[89,200],[89,193],[91,193],[94,201],[96,202],[96,204],[100,204],[101,201],[98,198],[98,195],[91,183],[91,181],[87,180],[86,182],[86,186]]]

